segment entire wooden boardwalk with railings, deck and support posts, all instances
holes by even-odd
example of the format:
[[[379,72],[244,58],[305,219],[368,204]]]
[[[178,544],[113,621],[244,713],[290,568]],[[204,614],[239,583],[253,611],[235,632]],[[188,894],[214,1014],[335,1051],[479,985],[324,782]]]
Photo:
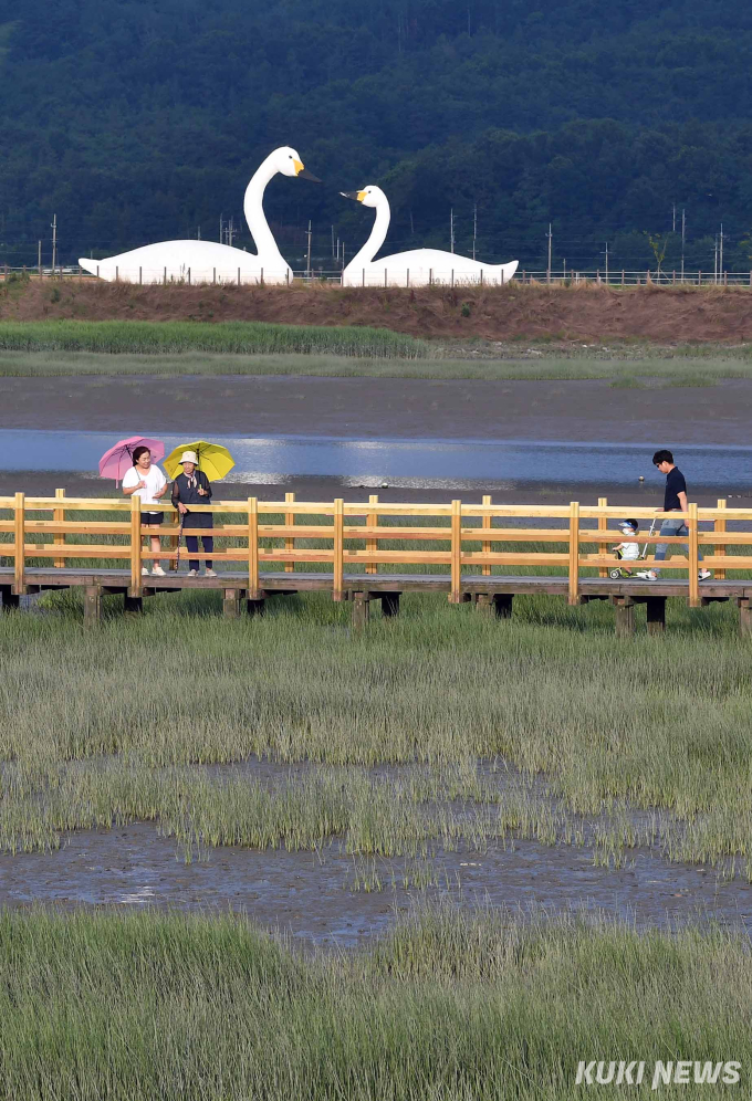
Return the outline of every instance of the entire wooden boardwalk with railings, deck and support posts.
[[[493,504],[488,496],[481,504],[453,501],[450,505],[385,504],[375,495],[355,504],[297,502],[292,494],[281,502],[254,497],[216,502],[197,511],[216,514],[211,534],[220,545],[211,555],[190,555],[199,560],[211,557],[218,567],[216,577],[188,577],[174,568],[161,577],[143,573],[153,558],[175,567],[179,528],[167,505],[171,518],[160,528],[167,546],[158,555],[146,550],[143,543],[150,533],[142,529],[138,510],[137,499],[69,499],[61,490],[55,497],[24,497],[22,493],[0,497],[0,517],[8,513],[8,518],[0,518],[2,607],[18,607],[24,594],[81,588],[84,620],[93,625],[106,594],[122,594],[124,610],[136,612],[145,597],[158,593],[219,589],[224,614],[236,617],[243,608],[252,615],[263,612],[265,601],[274,596],[327,591],[334,600],[351,602],[353,622],[363,628],[374,600],[380,601],[384,615],[394,616],[403,593],[443,593],[452,604],[473,601],[479,611],[498,617],[511,616],[515,596],[544,594],[572,605],[610,601],[617,632],[629,635],[636,605],[647,606],[648,630],[658,632],[665,627],[667,598],[679,597],[693,607],[733,600],[739,607],[740,632],[752,631],[752,556],[748,549],[752,531],[729,531],[730,522],[741,521],[749,527],[752,510],[727,508],[722,501],[717,508],[689,506],[688,537],[638,537],[640,543],[689,546],[689,555],[673,554],[661,565],[666,573],[656,581],[608,576],[618,565],[609,545],[623,538],[620,532],[609,529],[609,522],[625,515],[649,522],[656,512],[608,505],[605,499],[597,506],[583,507],[577,502],[512,506]],[[83,520],[82,513],[87,514]],[[562,526],[529,526],[531,521],[541,525],[549,520]],[[701,524],[712,524],[712,529],[703,531]],[[206,529],[195,532],[206,534]],[[187,526],[185,534],[191,534]],[[714,570],[714,577],[704,581],[698,580],[697,573],[700,546],[706,549],[706,565]],[[727,554],[729,546],[731,554]],[[670,546],[673,549],[680,548]],[[651,557],[645,565],[650,565]],[[1,565],[3,559],[12,564]],[[76,559],[82,564],[74,565]],[[184,547],[180,560],[186,569],[187,559]],[[276,568],[262,568],[267,563]],[[312,564],[321,572],[312,572]],[[346,572],[353,565],[356,570]],[[410,572],[397,572],[395,566],[400,565],[411,567]],[[515,566],[541,570],[553,566],[560,573],[493,572]],[[730,568],[750,576],[727,578]],[[678,570],[688,572],[688,578],[667,576]]]

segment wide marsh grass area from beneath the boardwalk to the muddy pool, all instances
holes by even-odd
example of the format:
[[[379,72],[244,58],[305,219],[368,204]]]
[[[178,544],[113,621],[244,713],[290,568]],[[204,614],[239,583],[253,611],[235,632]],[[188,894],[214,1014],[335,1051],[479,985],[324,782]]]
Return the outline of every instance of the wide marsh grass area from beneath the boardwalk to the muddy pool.
[[[219,618],[219,594],[156,597],[140,620],[112,597],[88,633],[77,597],[46,599],[45,616],[0,621],[3,848],[139,818],[184,848],[340,839],[421,856],[510,833],[582,843],[578,816],[596,815],[598,862],[647,843],[752,875],[752,674],[735,609],[676,601],[665,638],[640,622],[625,642],[610,608],[550,597],[518,597],[497,622],[407,595],[400,618],[359,637],[325,594],[238,621]],[[134,663],[150,670],[138,692]],[[274,799],[190,768],[251,755],[316,767]],[[499,761],[518,784],[479,778],[479,762]],[[370,775],[384,764],[420,774]]]

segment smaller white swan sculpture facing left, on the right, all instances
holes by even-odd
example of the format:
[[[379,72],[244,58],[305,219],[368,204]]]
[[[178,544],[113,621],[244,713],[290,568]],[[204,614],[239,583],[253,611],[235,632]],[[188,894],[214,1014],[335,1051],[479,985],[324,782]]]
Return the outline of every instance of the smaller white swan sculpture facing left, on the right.
[[[455,252],[414,249],[391,256],[374,256],[384,244],[389,228],[389,200],[380,187],[369,184],[361,191],[341,191],[364,207],[375,207],[370,237],[342,273],[343,286],[426,286],[429,283],[508,283],[516,271],[516,260],[508,264],[482,264]]]

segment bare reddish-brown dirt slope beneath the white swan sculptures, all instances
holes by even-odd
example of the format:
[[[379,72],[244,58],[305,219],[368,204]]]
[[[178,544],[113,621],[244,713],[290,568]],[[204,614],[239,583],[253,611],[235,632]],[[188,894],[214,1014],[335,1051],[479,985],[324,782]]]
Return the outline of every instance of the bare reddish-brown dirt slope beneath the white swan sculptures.
[[[325,285],[136,286],[94,280],[0,285],[0,319],[264,321],[376,325],[414,336],[491,340],[643,339],[661,344],[752,338],[743,287],[607,289],[513,283],[505,287]]]

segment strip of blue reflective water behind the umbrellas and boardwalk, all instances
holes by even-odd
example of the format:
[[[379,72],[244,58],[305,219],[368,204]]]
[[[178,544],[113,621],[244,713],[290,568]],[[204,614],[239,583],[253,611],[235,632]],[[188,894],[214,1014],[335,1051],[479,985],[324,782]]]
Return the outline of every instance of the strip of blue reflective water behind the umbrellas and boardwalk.
[[[166,453],[186,442],[165,436]],[[236,460],[227,481],[283,485],[293,478],[334,478],[344,485],[512,490],[519,484],[603,484],[655,493],[664,479],[650,463],[649,443],[567,443],[533,440],[383,439],[343,440],[325,436],[246,438],[213,436]],[[106,432],[0,431],[0,468],[91,472],[115,442]],[[752,486],[752,447],[683,447],[681,464],[692,486]],[[111,482],[107,483],[108,485]]]

